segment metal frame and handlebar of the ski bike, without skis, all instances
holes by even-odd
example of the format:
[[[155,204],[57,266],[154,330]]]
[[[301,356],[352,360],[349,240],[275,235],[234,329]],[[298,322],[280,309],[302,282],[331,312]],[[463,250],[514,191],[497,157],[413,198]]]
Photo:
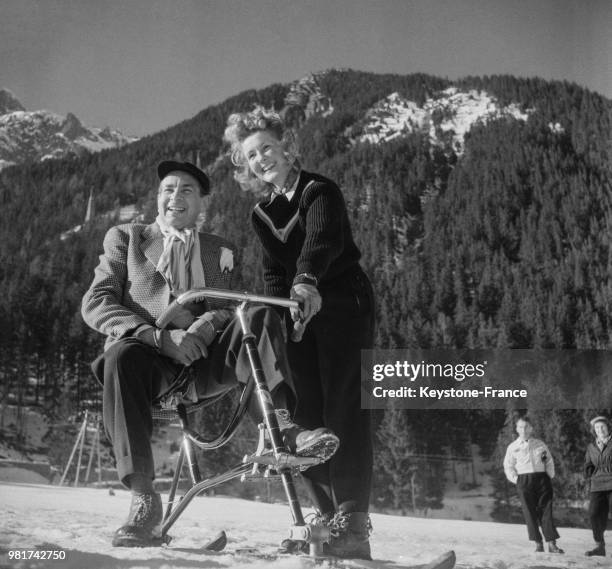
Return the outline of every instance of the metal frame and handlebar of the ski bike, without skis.
[[[310,466],[320,464],[323,462],[323,460],[318,457],[299,457],[287,452],[278,426],[278,420],[276,418],[270,390],[266,384],[261,358],[257,350],[256,338],[249,328],[245,314],[248,305],[253,303],[281,306],[285,308],[298,308],[299,303],[295,300],[290,300],[287,298],[255,295],[247,292],[243,293],[214,288],[193,289],[181,294],[175,300],[175,302],[170,305],[168,309],[166,309],[166,312],[158,320],[159,327],[163,328],[172,320],[173,309],[177,309],[176,305],[184,307],[192,303],[204,302],[207,298],[218,298],[239,303],[238,307],[236,308],[236,314],[240,321],[240,326],[242,329],[242,343],[247,350],[252,374],[251,379],[243,388],[240,402],[236,411],[234,412],[234,416],[230,420],[229,425],[216,439],[205,440],[199,433],[193,431],[189,427],[188,411],[192,407],[199,407],[200,402],[192,406],[185,406],[183,403],[178,403],[174,409],[170,411],[170,417],[163,416],[163,409],[161,410],[161,415],[157,414],[156,416],[154,413],[154,418],[158,419],[167,419],[178,416],[183,433],[181,449],[168,494],[168,504],[162,523],[162,541],[165,543],[170,541],[168,530],[176,522],[191,500],[198,494],[235,478],[241,478],[243,481],[249,478],[270,478],[271,472],[276,472],[283,484],[289,509],[291,511],[291,516],[293,518],[293,525],[289,529],[289,538],[308,543],[310,547],[310,555],[322,555],[323,543],[329,541],[329,529],[322,526],[315,526],[305,523],[300,502],[295,490],[293,476],[300,469],[305,469]],[[231,468],[227,472],[206,480],[202,480],[197,460],[195,458],[194,447],[198,447],[203,450],[210,450],[219,448],[226,444],[233,436],[236,428],[244,417],[248,400],[253,392],[253,389],[257,393],[257,398],[264,420],[263,425],[259,425],[259,443],[257,450],[254,454],[246,455],[241,464]],[[223,395],[225,395],[225,393],[223,393],[221,396]],[[213,396],[212,401],[214,402],[219,398],[219,396]],[[208,400],[203,400],[202,403],[205,405],[207,401]],[[268,452],[265,452],[266,436],[270,442],[272,452],[269,452],[269,450]],[[176,491],[179,486],[181,471],[183,469],[185,460],[187,461],[189,470],[191,488],[189,488],[189,490],[179,499],[176,507],[174,507]],[[263,474],[261,472],[261,468],[264,468]]]

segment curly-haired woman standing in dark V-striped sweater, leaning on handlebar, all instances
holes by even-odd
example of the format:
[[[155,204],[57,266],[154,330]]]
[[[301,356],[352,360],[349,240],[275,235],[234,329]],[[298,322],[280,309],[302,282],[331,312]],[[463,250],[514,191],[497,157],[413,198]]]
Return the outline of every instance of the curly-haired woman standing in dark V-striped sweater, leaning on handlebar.
[[[361,350],[373,345],[374,302],[344,198],[334,182],[301,169],[278,114],[261,107],[233,114],[225,138],[235,178],[265,196],[252,214],[265,292],[304,303],[291,313],[288,342],[295,420],[306,428],[323,424],[340,438],[335,456],[304,474],[318,522],[332,530],[327,552],[369,559],[372,441],[370,412],[361,409],[360,362]],[[294,551],[301,545],[283,543]]]

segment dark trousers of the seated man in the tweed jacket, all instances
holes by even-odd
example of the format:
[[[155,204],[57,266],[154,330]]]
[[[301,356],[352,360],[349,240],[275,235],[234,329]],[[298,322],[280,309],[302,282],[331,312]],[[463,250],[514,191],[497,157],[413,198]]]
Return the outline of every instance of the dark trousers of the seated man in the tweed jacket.
[[[293,390],[281,320],[266,307],[247,310],[255,334],[268,388],[272,392]],[[229,391],[251,376],[240,322],[235,317],[209,346],[207,358],[192,364],[197,372],[199,398]],[[113,444],[119,479],[127,485],[131,474],[155,477],[151,435],[154,401],[165,393],[183,366],[135,338],[118,340],[99,357],[92,369],[104,384],[103,419]],[[281,388],[282,387],[282,388]],[[275,398],[276,399],[276,398]],[[283,397],[286,402],[286,399]],[[286,403],[285,403],[286,404]]]

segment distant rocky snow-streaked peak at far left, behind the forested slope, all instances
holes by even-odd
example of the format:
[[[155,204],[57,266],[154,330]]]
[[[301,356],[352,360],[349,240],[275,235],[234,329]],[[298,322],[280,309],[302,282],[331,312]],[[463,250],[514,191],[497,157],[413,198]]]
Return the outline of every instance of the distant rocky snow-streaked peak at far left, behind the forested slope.
[[[123,146],[137,140],[106,127],[88,128],[72,113],[25,110],[8,90],[0,90],[0,169],[51,158]]]

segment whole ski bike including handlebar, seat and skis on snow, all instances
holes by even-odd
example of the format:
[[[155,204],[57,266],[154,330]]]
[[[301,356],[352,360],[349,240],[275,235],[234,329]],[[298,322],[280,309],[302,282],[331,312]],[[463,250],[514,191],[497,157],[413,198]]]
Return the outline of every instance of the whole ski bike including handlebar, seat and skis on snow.
[[[251,378],[242,388],[239,402],[227,426],[223,432],[214,439],[205,439],[200,433],[193,430],[189,424],[189,416],[203,406],[218,401],[225,396],[226,393],[214,395],[209,399],[204,399],[195,404],[185,405],[180,401],[180,397],[176,397],[176,394],[180,393],[181,387],[183,387],[181,381],[188,381],[186,375],[183,380],[179,377],[173,391],[164,397],[160,407],[153,410],[153,417],[157,420],[173,420],[178,418],[182,430],[181,447],[168,493],[160,543],[167,544],[170,542],[171,537],[168,535],[168,531],[185,511],[191,500],[202,492],[236,478],[240,478],[242,481],[274,478],[282,482],[293,520],[293,524],[289,527],[287,537],[295,541],[307,543],[309,556],[312,558],[313,563],[318,565],[318,558],[325,557],[323,545],[329,542],[331,530],[326,526],[311,524],[305,521],[296,493],[294,477],[299,472],[320,464],[326,459],[314,456],[296,456],[290,454],[285,447],[274,405],[272,403],[272,397],[262,369],[256,338],[251,332],[245,316],[247,308],[249,305],[253,304],[265,304],[283,308],[299,308],[299,303],[296,300],[287,298],[263,296],[248,292],[214,288],[193,289],[181,294],[158,319],[157,325],[163,328],[172,321],[175,312],[188,308],[194,303],[204,303],[208,298],[223,299],[237,303],[236,315],[240,321],[242,342],[247,350],[252,373]],[[258,398],[258,403],[264,419],[264,422],[258,425],[259,440],[255,452],[246,455],[240,464],[230,468],[227,472],[208,479],[203,479],[195,456],[196,449],[212,450],[220,448],[228,443],[243,419],[249,398],[253,393],[255,393]],[[190,487],[183,496],[177,499],[176,493],[179,483],[181,482],[181,472],[185,465],[187,466],[189,474]],[[221,532],[217,537],[212,539],[204,549],[209,551],[221,551],[226,544],[227,537],[225,532]],[[249,550],[249,553],[251,552],[257,554],[256,550]],[[264,557],[270,558],[268,555]],[[334,567],[343,568],[345,566],[344,561],[341,559],[335,559],[333,563]],[[350,566],[354,569],[359,569],[362,566],[368,569],[378,566],[376,561],[361,562],[360,560],[348,560],[347,563],[349,564],[347,567]],[[362,565],[362,563],[365,563],[365,565]],[[392,569],[394,566],[389,565],[388,562],[382,563],[388,569]],[[421,566],[421,569],[452,569],[454,565],[455,554],[453,551],[448,551],[430,563]],[[399,568],[397,565],[396,567]]]

